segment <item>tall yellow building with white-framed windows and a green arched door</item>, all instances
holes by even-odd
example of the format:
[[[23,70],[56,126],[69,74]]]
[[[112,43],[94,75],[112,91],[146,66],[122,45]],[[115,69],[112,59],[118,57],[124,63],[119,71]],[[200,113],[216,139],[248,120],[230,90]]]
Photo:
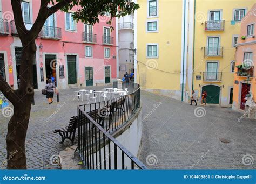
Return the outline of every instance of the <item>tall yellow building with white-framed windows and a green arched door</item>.
[[[253,0],[138,0],[137,79],[143,89],[188,101],[232,104],[235,43]],[[137,68],[136,68],[137,66]]]

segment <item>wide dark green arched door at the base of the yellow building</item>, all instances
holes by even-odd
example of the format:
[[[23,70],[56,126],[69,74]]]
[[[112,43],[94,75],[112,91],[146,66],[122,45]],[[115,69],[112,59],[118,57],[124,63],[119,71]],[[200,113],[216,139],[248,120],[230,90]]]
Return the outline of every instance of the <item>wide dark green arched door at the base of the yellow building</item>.
[[[206,103],[219,104],[220,100],[220,87],[214,85],[204,86],[203,91],[206,90],[207,98]]]

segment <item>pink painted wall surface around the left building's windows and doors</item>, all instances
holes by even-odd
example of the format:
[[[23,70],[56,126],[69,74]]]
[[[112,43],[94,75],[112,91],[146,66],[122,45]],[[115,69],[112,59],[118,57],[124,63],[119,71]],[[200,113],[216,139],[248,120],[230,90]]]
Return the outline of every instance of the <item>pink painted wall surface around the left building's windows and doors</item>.
[[[39,11],[39,5],[40,1],[37,0],[30,0],[30,3],[32,2],[32,21],[31,23],[35,22],[37,13]],[[10,1],[3,1],[2,0],[2,10],[3,10],[3,18],[13,20],[13,14],[11,9],[11,3]],[[76,10],[76,9],[74,9]],[[30,10],[31,11],[31,10]],[[9,16],[7,16],[9,15]],[[39,49],[39,45],[42,45],[43,48],[39,49],[39,60],[37,60],[37,63],[41,63],[38,65],[42,66],[43,61],[43,53],[58,53],[58,59],[59,62],[65,65],[65,55],[66,53],[73,53],[77,54],[79,57],[79,83],[84,83],[85,80],[85,66],[91,66],[93,67],[93,73],[94,73],[94,80],[103,80],[104,78],[104,66],[108,65],[111,66],[111,77],[114,79],[117,77],[117,65],[116,65],[116,59],[104,59],[104,47],[110,48],[110,56],[116,56],[116,19],[114,18],[112,21],[112,26],[114,27],[114,30],[111,32],[111,37],[113,37],[113,45],[103,45],[102,44],[102,36],[104,34],[103,27],[109,27],[109,25],[106,24],[106,22],[110,19],[106,16],[99,16],[100,22],[95,24],[93,26],[93,34],[97,34],[97,43],[96,44],[84,44],[82,43],[82,33],[84,32],[84,24],[81,22],[78,22],[76,24],[76,32],[68,32],[65,31],[65,16],[64,12],[56,12],[55,13],[55,19],[56,19],[56,27],[60,27],[62,29],[62,39],[60,40],[48,40],[48,39],[36,39],[36,44]],[[9,32],[10,32],[10,24],[9,24]],[[64,42],[64,44],[63,44]],[[9,35],[6,37],[0,36],[0,51],[7,51],[8,53],[8,61],[11,62],[11,58],[13,55],[11,55],[11,47],[10,45],[14,43],[14,37]],[[85,58],[85,45],[92,46],[93,51],[93,58]],[[65,72],[67,71],[66,65],[65,65]],[[39,72],[39,71],[37,71]],[[39,76],[39,75],[37,75]],[[66,77],[66,76],[65,76]],[[14,84],[14,76],[12,73],[9,74],[9,82],[10,84]],[[39,81],[40,79],[38,79]]]

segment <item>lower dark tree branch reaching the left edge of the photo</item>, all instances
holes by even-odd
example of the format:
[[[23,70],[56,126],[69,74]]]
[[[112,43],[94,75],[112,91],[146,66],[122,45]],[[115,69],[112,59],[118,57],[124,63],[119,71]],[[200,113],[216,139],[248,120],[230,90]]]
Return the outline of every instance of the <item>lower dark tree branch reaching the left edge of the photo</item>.
[[[12,89],[9,84],[4,80],[4,78],[0,75],[0,91],[4,94],[4,96],[15,105],[19,101],[19,97],[15,94],[15,90]]]

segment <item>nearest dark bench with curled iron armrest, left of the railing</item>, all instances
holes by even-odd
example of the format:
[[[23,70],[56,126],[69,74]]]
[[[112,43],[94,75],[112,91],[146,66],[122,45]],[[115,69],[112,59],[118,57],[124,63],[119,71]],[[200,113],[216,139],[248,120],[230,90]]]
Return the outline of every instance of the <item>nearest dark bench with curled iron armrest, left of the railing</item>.
[[[76,129],[77,129],[77,116],[72,116],[68,126],[65,126],[62,129],[57,129],[53,133],[59,133],[62,137],[62,141],[59,143],[64,143],[65,139],[71,140],[71,143],[74,144]]]

